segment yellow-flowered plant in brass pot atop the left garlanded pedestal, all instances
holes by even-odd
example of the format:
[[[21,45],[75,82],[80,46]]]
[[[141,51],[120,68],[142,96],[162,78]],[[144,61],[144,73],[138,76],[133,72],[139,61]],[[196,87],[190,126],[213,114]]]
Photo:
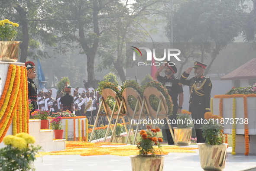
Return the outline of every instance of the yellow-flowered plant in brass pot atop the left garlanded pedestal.
[[[16,28],[19,24],[10,22],[9,19],[0,20],[0,61],[18,61],[19,43],[16,39]]]

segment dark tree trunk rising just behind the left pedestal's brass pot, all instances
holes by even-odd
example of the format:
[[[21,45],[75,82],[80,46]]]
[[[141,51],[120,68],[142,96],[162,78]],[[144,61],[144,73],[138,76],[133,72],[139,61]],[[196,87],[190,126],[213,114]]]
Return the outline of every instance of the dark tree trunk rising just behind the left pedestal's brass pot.
[[[14,9],[19,13],[21,18],[21,26],[23,33],[23,41],[19,45],[20,48],[20,62],[26,62],[27,54],[28,54],[28,46],[29,46],[29,33],[28,33],[28,23],[26,19],[27,12],[23,10],[23,8],[19,5],[16,5]]]

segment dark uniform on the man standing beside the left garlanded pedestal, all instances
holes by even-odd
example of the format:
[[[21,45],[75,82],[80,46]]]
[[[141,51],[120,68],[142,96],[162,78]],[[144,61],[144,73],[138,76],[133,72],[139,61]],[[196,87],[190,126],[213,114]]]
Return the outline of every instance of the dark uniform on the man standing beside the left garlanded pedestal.
[[[33,108],[30,113],[34,112],[36,109],[38,109],[37,105],[37,88],[35,82],[28,78],[28,90],[29,90],[29,99],[31,100],[31,104],[33,105]]]

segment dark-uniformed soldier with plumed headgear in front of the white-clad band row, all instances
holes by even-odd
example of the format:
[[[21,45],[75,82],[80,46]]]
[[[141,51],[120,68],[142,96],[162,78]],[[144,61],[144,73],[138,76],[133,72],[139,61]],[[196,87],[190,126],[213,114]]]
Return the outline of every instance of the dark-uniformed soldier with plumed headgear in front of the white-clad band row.
[[[71,86],[66,83],[65,87],[65,96],[63,96],[60,102],[63,104],[63,110],[69,110],[71,113],[75,114],[75,104],[74,104],[74,97],[70,94],[71,93]]]

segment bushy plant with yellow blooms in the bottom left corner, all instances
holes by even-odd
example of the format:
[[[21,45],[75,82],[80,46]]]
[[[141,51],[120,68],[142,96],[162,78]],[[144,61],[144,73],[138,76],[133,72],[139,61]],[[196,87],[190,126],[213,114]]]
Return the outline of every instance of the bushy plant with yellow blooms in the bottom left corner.
[[[39,145],[36,147],[31,145],[34,142],[36,142],[35,138],[24,132],[16,136],[5,136],[3,143],[7,146],[0,148],[1,171],[34,171],[33,161],[36,160],[35,155],[41,149]]]

